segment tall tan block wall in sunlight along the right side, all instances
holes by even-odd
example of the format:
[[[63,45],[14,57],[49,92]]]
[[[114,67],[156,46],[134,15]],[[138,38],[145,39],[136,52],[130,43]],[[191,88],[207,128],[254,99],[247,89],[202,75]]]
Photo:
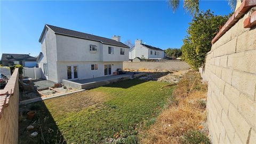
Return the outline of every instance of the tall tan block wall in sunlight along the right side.
[[[256,143],[256,28],[243,28],[250,10],[206,55],[207,119],[213,143]]]

